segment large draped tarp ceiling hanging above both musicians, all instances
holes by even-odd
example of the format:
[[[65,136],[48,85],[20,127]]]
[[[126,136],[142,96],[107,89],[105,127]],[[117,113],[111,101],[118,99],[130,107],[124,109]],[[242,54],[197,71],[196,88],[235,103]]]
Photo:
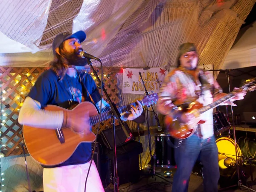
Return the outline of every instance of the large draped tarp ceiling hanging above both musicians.
[[[248,9],[240,1],[247,2]],[[248,3],[249,0],[2,0],[0,66],[45,67],[52,60],[55,36],[78,30],[87,33],[83,49],[101,58],[105,67],[175,67],[178,47],[187,41],[196,44],[202,63],[221,65],[250,12],[249,4],[253,6]]]

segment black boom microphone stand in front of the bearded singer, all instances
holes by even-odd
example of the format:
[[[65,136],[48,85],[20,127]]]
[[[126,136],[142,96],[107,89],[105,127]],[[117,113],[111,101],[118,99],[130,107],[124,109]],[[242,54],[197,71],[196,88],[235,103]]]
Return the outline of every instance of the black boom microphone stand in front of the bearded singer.
[[[99,60],[100,61],[100,60]],[[91,70],[93,71],[93,74],[94,76],[96,77],[96,79],[99,81],[99,87],[102,88],[102,90],[104,91],[105,93],[105,96],[107,97],[108,99],[108,102],[109,102],[109,105],[111,107],[111,112],[112,112],[112,124],[113,124],[113,144],[114,144],[114,148],[113,148],[113,170],[114,170],[114,175],[113,175],[113,185],[114,185],[114,192],[118,192],[118,188],[119,188],[119,177],[117,175],[117,160],[116,160],[116,127],[115,127],[115,122],[114,122],[114,118],[118,119],[119,120],[119,123],[122,125],[122,129],[125,133],[125,136],[127,138],[131,137],[128,132],[126,131],[124,125],[123,125],[123,122],[121,120],[121,115],[119,113],[119,111],[117,110],[116,108],[116,105],[111,101],[105,87],[104,87],[104,83],[101,82],[101,80],[99,79],[99,76],[96,72],[96,70],[94,70],[93,66],[92,66],[92,63],[90,61],[90,59],[87,58],[87,63],[88,65],[90,66]],[[101,65],[102,65],[102,62],[100,61]],[[101,116],[100,116],[101,118]]]

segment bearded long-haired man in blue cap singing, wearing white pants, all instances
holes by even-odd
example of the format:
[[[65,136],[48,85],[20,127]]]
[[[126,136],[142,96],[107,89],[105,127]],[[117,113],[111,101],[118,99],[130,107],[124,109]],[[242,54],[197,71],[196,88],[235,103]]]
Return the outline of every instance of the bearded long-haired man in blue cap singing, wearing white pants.
[[[35,86],[24,100],[18,118],[20,124],[49,129],[72,127],[73,131],[79,134],[90,133],[90,117],[84,114],[86,109],[76,110],[76,113],[44,110],[46,105],[71,109],[83,101],[95,103],[99,110],[100,94],[92,77],[73,67],[87,64],[86,60],[79,56],[83,51],[81,42],[85,38],[83,31],[73,34],[64,32],[55,37],[52,43],[54,60],[50,69],[38,77]],[[102,100],[102,111],[109,110],[108,103]],[[131,112],[122,114],[121,119],[133,120],[140,116],[142,111],[142,105],[138,102],[138,106],[132,107]],[[44,192],[84,192],[91,153],[91,143],[81,143],[63,163],[43,166]],[[86,191],[104,192],[94,162],[90,167]]]

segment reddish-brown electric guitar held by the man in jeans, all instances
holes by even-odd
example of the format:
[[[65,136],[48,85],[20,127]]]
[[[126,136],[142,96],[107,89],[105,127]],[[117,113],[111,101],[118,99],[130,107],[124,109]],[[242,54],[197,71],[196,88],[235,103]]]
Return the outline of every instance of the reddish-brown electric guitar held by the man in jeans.
[[[256,89],[256,79],[250,79],[247,80],[242,87],[240,87],[240,90],[246,90],[246,91],[253,91]],[[227,94],[226,96],[216,100],[215,102],[203,106],[199,102],[192,102],[190,103],[189,107],[186,108],[187,113],[192,113],[195,116],[195,119],[193,119],[191,122],[184,123],[181,122],[179,119],[172,119],[171,116],[166,115],[164,119],[165,126],[167,130],[169,131],[169,134],[172,137],[175,137],[176,139],[186,139],[192,134],[195,133],[198,124],[203,124],[205,121],[200,119],[200,115],[212,108],[215,108],[217,105],[220,105],[221,103],[231,99],[235,96],[236,91],[232,91],[231,93]]]

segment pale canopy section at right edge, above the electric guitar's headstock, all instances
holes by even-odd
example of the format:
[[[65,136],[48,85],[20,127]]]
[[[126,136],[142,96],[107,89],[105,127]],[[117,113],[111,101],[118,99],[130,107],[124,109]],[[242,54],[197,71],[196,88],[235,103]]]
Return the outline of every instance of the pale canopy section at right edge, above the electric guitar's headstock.
[[[241,29],[221,69],[256,66],[256,22]]]

